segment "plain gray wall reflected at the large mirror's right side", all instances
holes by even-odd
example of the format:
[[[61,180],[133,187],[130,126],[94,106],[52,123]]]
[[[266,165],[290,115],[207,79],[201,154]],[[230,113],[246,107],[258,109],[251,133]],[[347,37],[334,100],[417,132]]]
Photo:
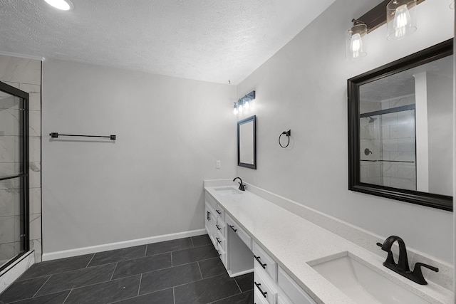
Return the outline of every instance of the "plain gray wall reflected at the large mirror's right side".
[[[452,78],[427,74],[429,192],[449,196],[453,192],[452,85]]]

